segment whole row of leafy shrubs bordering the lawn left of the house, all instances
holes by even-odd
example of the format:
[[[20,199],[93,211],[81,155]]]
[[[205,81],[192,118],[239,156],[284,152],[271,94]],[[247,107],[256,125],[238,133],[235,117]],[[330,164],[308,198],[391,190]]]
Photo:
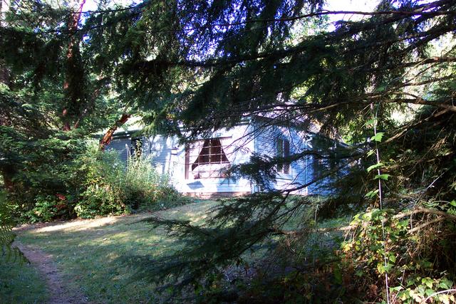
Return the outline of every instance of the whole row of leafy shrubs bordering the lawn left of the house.
[[[132,157],[125,166],[118,152],[100,151],[95,140],[41,141],[33,147],[33,169],[19,168],[6,199],[23,222],[162,209],[180,201],[150,157]]]

